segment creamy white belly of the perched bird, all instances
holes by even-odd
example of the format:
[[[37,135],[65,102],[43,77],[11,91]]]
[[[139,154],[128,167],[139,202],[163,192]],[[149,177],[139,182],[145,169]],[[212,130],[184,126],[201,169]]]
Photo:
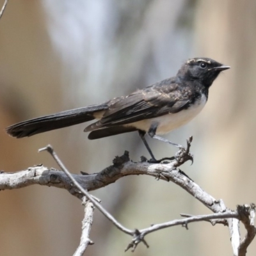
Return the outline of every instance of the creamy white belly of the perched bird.
[[[142,131],[148,131],[152,124],[158,124],[156,134],[164,134],[188,123],[198,115],[198,113],[200,113],[204,108],[206,101],[207,99],[205,95],[202,95],[201,99],[197,100],[195,104],[190,106],[188,109],[184,109],[178,113],[170,113],[156,118],[141,120],[129,125],[132,125]]]

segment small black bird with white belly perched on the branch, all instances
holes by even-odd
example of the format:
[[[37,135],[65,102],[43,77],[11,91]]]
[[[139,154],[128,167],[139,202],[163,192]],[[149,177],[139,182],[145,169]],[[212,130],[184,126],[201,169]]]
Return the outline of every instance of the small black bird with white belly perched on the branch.
[[[182,147],[159,135],[177,129],[198,115],[207,102],[213,81],[228,68],[211,58],[191,58],[182,64],[176,76],[127,96],[26,120],[10,125],[6,132],[10,136],[23,138],[96,120],[84,129],[84,132],[90,132],[89,140],[138,131],[154,161],[156,158],[145,140],[145,134]]]

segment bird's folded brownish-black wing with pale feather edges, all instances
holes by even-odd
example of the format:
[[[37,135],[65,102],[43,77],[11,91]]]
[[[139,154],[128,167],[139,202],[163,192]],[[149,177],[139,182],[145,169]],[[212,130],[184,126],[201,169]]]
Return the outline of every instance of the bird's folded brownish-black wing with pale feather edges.
[[[175,83],[168,86],[149,86],[127,97],[113,99],[102,118],[86,127],[84,131],[131,124],[188,108],[189,93],[184,94],[178,87]]]

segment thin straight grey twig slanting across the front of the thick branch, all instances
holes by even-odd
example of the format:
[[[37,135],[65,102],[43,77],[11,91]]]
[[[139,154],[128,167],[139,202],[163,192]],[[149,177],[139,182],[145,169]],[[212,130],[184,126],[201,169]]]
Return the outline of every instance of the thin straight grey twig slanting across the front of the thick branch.
[[[46,150],[47,152],[49,152],[51,154],[51,156],[54,158],[54,160],[56,161],[56,163],[58,163],[58,165],[60,166],[61,170],[63,170],[63,172],[65,172],[67,174],[67,176],[70,178],[70,180],[72,180],[72,182],[74,183],[74,185],[81,191],[81,193],[83,193],[83,195],[86,196],[86,198],[88,198],[93,205],[95,205],[95,207],[97,207],[97,209],[99,209],[100,212],[102,212],[102,214],[108,218],[108,220],[110,220],[118,229],[122,230],[124,233],[129,234],[129,235],[133,235],[134,231],[125,228],[121,223],[119,223],[118,221],[116,221],[116,219],[108,212],[106,211],[106,209],[104,209],[104,207],[102,207],[102,205],[100,205],[94,198],[93,196],[90,195],[90,193],[88,193],[87,190],[83,189],[83,187],[76,181],[76,179],[74,179],[74,177],[72,176],[72,174],[70,172],[68,172],[67,168],[65,167],[65,165],[61,162],[60,158],[57,156],[57,154],[54,152],[53,148],[51,147],[51,145],[48,145],[45,148],[41,148],[40,150],[38,150],[39,152]]]

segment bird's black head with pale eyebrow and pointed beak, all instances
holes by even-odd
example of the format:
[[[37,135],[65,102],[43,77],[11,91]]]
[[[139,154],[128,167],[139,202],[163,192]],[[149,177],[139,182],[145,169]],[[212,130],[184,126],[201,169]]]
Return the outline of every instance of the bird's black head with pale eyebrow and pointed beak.
[[[198,80],[204,86],[210,87],[220,72],[228,68],[230,67],[210,58],[193,58],[182,65],[177,76],[189,81]]]

